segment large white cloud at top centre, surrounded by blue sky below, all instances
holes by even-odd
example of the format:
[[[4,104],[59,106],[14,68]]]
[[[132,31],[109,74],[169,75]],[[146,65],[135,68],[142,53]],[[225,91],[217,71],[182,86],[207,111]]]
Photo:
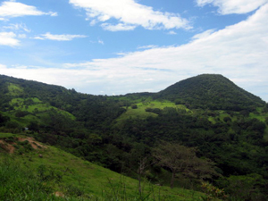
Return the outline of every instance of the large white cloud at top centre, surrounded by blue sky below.
[[[154,11],[152,7],[135,0],[70,0],[70,4],[86,10],[91,25],[116,19],[117,25],[104,23],[107,30],[130,30],[137,26],[145,29],[190,29],[188,21],[176,13]]]

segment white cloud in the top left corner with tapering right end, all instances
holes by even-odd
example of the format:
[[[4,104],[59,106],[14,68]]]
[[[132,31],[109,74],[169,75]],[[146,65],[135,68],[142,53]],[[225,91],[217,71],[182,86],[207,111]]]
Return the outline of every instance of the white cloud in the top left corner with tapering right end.
[[[0,6],[0,17],[4,18],[13,18],[21,17],[25,15],[51,15],[56,16],[57,13],[44,13],[38,11],[35,6],[21,4],[19,2],[9,1],[3,2]]]

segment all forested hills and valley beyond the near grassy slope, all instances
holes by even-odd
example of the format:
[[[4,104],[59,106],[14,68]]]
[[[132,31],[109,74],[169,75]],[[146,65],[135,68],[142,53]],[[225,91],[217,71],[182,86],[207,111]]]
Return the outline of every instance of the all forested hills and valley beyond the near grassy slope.
[[[30,135],[135,179],[197,190],[209,182],[226,199],[268,199],[268,105],[222,75],[126,96],[0,75],[0,97],[3,133]]]

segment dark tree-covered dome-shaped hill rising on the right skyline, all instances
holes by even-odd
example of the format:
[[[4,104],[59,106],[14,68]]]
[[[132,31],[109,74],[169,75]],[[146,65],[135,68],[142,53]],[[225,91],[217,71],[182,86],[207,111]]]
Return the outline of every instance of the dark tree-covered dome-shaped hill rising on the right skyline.
[[[254,110],[264,101],[254,96],[222,75],[202,74],[181,80],[155,95],[192,108],[212,110]]]

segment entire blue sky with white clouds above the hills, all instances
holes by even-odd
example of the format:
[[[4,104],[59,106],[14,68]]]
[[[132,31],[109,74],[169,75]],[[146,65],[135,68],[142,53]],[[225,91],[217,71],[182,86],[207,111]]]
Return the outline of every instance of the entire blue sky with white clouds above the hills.
[[[268,102],[268,0],[0,0],[0,74],[94,95],[222,74]]]

